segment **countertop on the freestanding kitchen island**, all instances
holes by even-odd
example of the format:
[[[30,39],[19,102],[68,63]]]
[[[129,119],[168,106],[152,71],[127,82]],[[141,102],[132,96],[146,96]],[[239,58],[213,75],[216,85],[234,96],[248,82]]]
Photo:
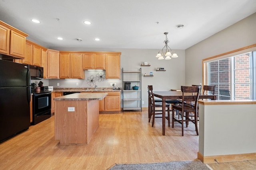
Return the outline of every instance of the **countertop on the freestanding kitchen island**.
[[[108,93],[74,93],[74,94],[69,94],[69,95],[66,95],[66,96],[60,96],[60,97],[54,98],[53,100],[61,100],[61,101],[67,101],[67,100],[102,100],[107,95],[108,95]]]

